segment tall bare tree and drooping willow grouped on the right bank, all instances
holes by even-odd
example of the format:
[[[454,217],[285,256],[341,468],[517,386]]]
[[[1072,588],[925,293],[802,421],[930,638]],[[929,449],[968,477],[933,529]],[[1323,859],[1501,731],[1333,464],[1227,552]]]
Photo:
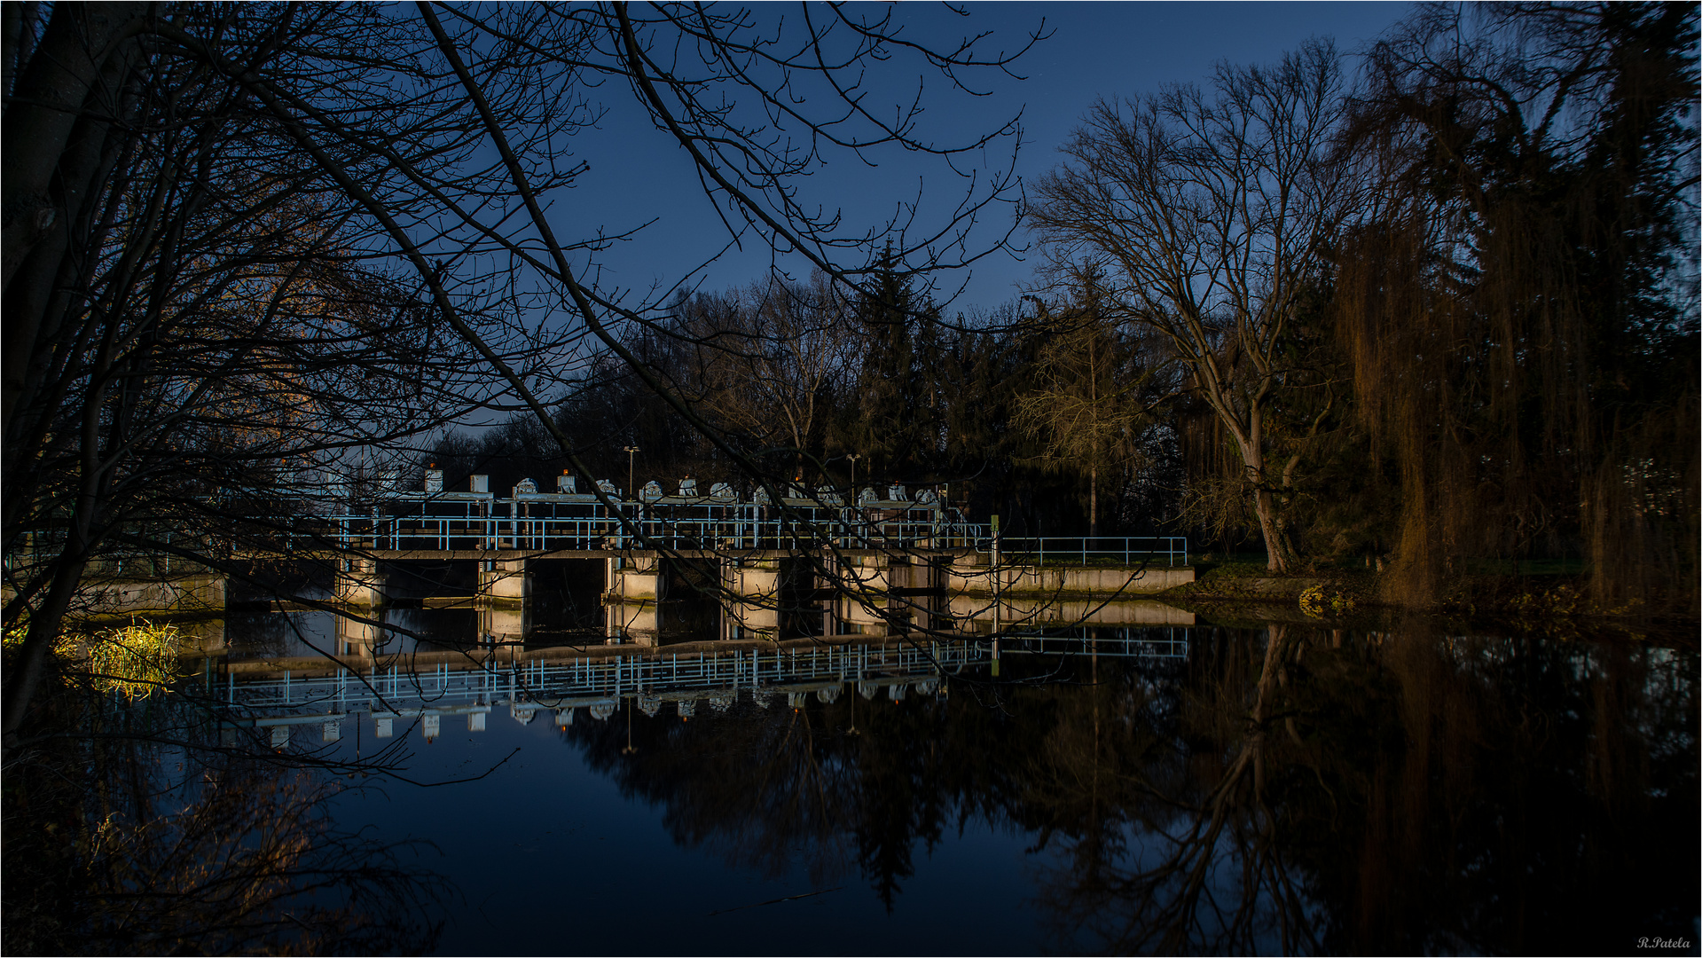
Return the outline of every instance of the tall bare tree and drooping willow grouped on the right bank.
[[[1198,524],[1270,568],[1484,560],[1697,607],[1697,10],[1426,7],[1101,102],[1040,182],[1054,289],[1183,376]],[[1380,565],[1380,562],[1379,562]]]

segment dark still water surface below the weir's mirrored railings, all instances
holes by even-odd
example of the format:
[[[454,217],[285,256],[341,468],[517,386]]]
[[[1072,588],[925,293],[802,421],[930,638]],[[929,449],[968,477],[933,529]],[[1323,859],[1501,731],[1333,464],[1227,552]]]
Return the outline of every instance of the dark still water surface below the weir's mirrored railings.
[[[283,618],[233,621],[233,652],[313,633]],[[436,844],[448,955],[1695,951],[1693,645],[1154,631],[1186,653],[398,727],[407,778],[483,778],[339,779],[366,788],[334,818]]]

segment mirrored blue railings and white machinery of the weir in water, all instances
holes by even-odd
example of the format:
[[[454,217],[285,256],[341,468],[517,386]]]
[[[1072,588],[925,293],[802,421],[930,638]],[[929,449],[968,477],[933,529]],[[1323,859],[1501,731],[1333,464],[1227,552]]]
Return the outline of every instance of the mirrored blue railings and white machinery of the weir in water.
[[[762,708],[786,696],[802,708],[808,694],[834,703],[851,686],[873,699],[882,691],[899,701],[909,693],[946,694],[945,677],[974,665],[997,665],[999,655],[1099,655],[1127,659],[1185,659],[1186,630],[1052,630],[1008,635],[997,642],[853,642],[802,643],[793,648],[730,648],[679,653],[562,655],[534,653],[499,664],[412,657],[407,665],[374,665],[296,674],[230,672],[218,682],[218,698],[242,715],[238,725],[272,728],[272,744],[284,745],[294,725],[320,725],[325,742],[342,735],[342,721],[368,713],[380,738],[393,735],[393,720],[419,718],[432,738],[446,715],[465,715],[470,732],[485,730],[495,706],[524,723],[538,711],[553,711],[557,725],[570,725],[575,710],[609,718],[621,699],[655,715],[672,704],[691,718],[700,703],[725,711],[749,694]],[[460,667],[456,667],[460,665]],[[211,676],[208,684],[213,686]],[[213,686],[216,687],[216,686]]]

